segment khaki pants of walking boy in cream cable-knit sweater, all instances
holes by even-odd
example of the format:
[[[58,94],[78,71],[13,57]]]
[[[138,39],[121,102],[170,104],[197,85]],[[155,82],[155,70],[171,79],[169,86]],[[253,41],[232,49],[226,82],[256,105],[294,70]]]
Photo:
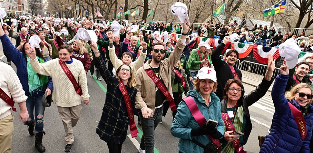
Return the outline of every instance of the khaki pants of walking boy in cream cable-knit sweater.
[[[67,144],[72,144],[74,142],[73,127],[80,118],[81,104],[73,107],[58,106],[58,110],[66,133],[64,139]]]

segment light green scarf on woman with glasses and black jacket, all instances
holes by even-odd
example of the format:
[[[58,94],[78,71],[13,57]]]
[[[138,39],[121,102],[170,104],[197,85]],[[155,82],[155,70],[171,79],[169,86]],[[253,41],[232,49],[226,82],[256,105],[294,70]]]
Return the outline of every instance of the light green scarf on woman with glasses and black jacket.
[[[244,109],[242,108],[242,105],[238,107],[237,112],[235,114],[235,121],[233,123],[233,126],[235,127],[236,131],[240,131],[242,129],[242,123],[244,120]],[[226,131],[226,127],[224,125],[224,129]],[[233,146],[232,142],[227,142],[226,146],[223,148],[222,152],[228,153],[228,152],[235,152],[235,148]]]

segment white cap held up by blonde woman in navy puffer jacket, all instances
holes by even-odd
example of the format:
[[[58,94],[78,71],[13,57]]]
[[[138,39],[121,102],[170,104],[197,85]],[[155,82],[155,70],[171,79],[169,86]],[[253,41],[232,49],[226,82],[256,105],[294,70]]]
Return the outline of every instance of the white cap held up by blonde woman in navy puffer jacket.
[[[293,69],[298,63],[298,55],[301,52],[300,47],[293,38],[287,39],[279,45],[279,54],[286,60],[288,69]]]

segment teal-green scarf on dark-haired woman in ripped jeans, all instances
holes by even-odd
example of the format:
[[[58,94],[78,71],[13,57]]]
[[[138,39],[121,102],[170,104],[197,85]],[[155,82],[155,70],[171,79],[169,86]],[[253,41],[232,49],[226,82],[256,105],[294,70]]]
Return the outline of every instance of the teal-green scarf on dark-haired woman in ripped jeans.
[[[26,56],[27,58],[27,75],[28,75],[28,88],[29,88],[29,93],[33,92],[36,90],[38,87],[41,87],[40,91],[42,91],[42,87],[47,84],[48,82],[48,77],[44,75],[40,75],[38,77],[37,72],[35,72],[30,65],[29,57]],[[44,63],[44,59],[39,58],[37,56],[37,59],[39,63]]]

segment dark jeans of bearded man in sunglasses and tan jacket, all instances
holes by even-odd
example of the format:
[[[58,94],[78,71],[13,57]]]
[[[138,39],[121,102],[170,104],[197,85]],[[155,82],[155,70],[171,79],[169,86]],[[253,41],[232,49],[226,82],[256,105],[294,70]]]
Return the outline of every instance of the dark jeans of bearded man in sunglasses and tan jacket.
[[[154,152],[154,130],[157,125],[160,123],[162,119],[163,106],[161,108],[157,108],[154,111],[153,117],[151,118],[143,118],[140,117],[141,127],[143,135],[140,141],[140,148],[142,150],[146,150],[146,153]]]

